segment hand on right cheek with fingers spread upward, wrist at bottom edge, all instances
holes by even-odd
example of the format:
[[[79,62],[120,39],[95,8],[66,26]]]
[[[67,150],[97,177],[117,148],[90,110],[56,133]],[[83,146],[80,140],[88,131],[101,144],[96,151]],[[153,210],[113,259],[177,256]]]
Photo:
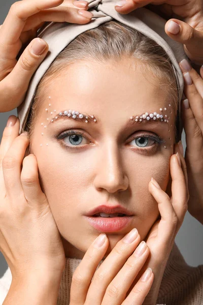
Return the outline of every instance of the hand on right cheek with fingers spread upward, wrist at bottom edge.
[[[147,246],[150,249],[150,256],[134,281],[137,281],[143,270],[148,267],[152,268],[154,281],[143,305],[156,304],[167,260],[187,211],[189,199],[187,170],[184,158],[182,160],[182,167],[180,166],[180,157],[179,153],[178,156],[174,154],[170,160],[171,180],[169,184],[171,185],[171,196],[168,196],[166,192],[161,190],[155,179],[152,178],[152,181],[149,183],[149,192],[158,203],[160,217],[145,238]]]

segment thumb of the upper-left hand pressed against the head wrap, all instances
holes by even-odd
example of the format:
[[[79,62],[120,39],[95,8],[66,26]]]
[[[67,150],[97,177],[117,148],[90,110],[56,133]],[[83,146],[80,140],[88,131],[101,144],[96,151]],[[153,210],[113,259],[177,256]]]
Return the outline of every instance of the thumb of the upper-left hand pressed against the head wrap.
[[[11,73],[1,81],[0,94],[4,95],[5,88],[9,88],[8,95],[4,95],[4,100],[6,99],[5,104],[7,106],[5,111],[13,109],[13,100],[10,96],[12,92],[15,92],[16,103],[18,102],[15,107],[18,107],[21,104],[21,98],[26,93],[29,81],[33,73],[43,62],[47,52],[48,44],[40,38],[35,38],[21,54]]]

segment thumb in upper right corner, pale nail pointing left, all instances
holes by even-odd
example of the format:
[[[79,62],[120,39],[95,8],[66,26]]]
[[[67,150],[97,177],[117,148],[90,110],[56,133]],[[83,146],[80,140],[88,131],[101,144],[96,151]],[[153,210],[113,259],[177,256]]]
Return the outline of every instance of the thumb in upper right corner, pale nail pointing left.
[[[165,23],[165,33],[173,40],[184,45],[185,53],[193,63],[202,65],[203,29],[197,31],[184,21],[170,19]]]

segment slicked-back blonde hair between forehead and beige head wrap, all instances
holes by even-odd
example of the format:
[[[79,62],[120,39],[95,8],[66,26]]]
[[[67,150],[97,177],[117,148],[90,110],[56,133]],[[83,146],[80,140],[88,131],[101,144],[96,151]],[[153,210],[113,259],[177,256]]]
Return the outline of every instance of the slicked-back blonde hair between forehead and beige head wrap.
[[[178,89],[174,70],[165,50],[155,41],[119,21],[109,21],[77,36],[54,60],[41,79],[33,98],[25,130],[31,141],[33,128],[38,119],[38,111],[46,84],[56,78],[61,71],[81,60],[97,63],[121,60],[125,57],[137,60],[136,68],[159,80],[167,100],[175,113],[178,107]],[[139,65],[140,64],[140,65]],[[144,64],[144,65],[143,65]],[[153,76],[153,77],[152,77]],[[175,130],[177,133],[177,129]]]

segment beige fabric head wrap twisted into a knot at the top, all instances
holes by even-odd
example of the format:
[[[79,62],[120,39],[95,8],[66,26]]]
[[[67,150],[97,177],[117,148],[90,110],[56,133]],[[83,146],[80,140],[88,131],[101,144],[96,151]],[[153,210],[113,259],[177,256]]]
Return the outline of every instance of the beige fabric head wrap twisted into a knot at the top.
[[[89,2],[89,11],[93,13],[92,20],[87,24],[73,24],[73,23],[55,23],[51,22],[39,33],[38,37],[43,38],[49,44],[49,54],[44,59],[36,73],[33,75],[24,102],[17,108],[18,117],[20,120],[20,130],[25,128],[27,117],[30,111],[31,103],[37,86],[48,70],[51,63],[57,55],[73,41],[81,33],[88,31],[88,29],[95,28],[102,23],[118,20],[134,29],[137,29],[142,34],[157,42],[167,53],[171,59],[173,69],[176,75],[178,93],[179,93],[179,107],[178,107],[178,136],[177,141],[181,139],[182,122],[180,117],[181,99],[183,95],[183,75],[179,67],[179,62],[186,58],[183,45],[175,42],[165,34],[164,25],[166,20],[151,12],[147,8],[137,9],[129,14],[119,14],[116,12],[114,6],[117,0],[87,0]]]

